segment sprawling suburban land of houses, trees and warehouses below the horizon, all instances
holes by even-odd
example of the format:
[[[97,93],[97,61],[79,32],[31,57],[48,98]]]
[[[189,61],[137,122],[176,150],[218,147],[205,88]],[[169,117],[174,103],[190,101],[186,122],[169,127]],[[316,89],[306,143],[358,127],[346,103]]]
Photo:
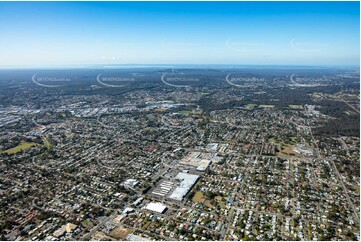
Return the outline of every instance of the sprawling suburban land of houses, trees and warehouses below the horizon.
[[[1,77],[2,240],[360,240],[359,70],[166,71]]]

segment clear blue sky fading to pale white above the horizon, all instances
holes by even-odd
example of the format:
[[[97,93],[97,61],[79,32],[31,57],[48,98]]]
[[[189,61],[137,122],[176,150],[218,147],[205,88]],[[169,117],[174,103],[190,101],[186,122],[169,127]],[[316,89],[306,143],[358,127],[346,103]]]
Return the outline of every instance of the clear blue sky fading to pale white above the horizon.
[[[0,66],[359,63],[359,2],[0,2]]]

